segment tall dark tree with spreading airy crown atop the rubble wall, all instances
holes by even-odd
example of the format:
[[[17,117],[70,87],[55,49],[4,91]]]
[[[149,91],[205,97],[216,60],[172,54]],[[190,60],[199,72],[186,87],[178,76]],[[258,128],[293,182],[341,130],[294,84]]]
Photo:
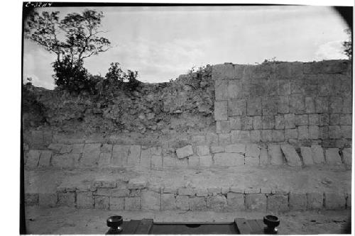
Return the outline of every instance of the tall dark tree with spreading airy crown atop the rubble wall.
[[[83,67],[84,58],[106,52],[111,43],[99,36],[99,33],[104,33],[99,30],[104,16],[102,12],[84,10],[81,14],[69,13],[61,21],[58,14],[59,11],[43,11],[41,14],[34,11],[26,21],[25,33],[27,38],[57,55],[53,63],[55,84],[71,89],[78,74],[82,82],[89,79]],[[75,86],[76,89],[80,87]]]

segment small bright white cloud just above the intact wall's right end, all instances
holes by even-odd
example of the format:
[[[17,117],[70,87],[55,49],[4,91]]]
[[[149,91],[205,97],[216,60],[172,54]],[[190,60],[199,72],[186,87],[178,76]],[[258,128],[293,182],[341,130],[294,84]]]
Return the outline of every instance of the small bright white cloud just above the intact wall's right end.
[[[342,40],[335,40],[318,46],[315,57],[317,60],[346,59],[342,42]]]

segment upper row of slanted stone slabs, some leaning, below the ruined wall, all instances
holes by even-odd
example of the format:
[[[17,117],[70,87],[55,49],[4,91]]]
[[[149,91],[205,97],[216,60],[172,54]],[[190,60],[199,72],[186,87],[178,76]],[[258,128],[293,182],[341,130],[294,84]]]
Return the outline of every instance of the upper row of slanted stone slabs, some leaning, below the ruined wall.
[[[202,136],[203,137],[203,136]],[[220,142],[223,143],[224,141]],[[288,144],[186,145],[180,148],[113,145],[107,143],[51,143],[47,150],[29,150],[27,168],[143,167],[169,169],[185,167],[237,167],[312,164],[351,167],[351,148],[300,147],[300,154]]]

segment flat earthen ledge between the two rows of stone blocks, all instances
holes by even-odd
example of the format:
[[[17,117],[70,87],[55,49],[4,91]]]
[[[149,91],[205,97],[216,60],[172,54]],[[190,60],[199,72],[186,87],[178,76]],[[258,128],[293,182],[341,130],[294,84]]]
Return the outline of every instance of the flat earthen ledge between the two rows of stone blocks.
[[[351,189],[351,170],[328,167],[233,167],[208,169],[60,170],[43,169],[25,172],[26,193],[55,193],[58,186],[80,186],[95,179],[124,180],[144,176],[148,186],[170,188],[213,186],[271,188],[305,192],[344,192]]]

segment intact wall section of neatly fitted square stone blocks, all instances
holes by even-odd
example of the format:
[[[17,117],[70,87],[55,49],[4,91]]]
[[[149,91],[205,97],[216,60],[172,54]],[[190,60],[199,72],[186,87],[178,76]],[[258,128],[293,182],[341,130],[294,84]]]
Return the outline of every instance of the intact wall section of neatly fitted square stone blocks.
[[[349,60],[212,67],[217,133],[232,142],[351,147]]]

